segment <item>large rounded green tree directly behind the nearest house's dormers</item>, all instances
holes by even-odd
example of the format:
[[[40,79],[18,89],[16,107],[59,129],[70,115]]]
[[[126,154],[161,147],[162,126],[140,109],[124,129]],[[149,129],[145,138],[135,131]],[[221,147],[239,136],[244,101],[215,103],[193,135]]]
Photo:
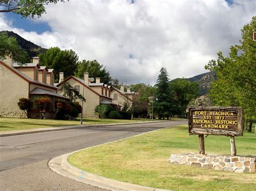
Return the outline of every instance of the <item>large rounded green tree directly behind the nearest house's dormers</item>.
[[[58,82],[59,72],[64,72],[64,77],[68,77],[77,70],[78,55],[72,49],[62,51],[58,47],[51,47],[44,54],[38,54],[38,57],[42,66],[55,69],[55,82]]]

